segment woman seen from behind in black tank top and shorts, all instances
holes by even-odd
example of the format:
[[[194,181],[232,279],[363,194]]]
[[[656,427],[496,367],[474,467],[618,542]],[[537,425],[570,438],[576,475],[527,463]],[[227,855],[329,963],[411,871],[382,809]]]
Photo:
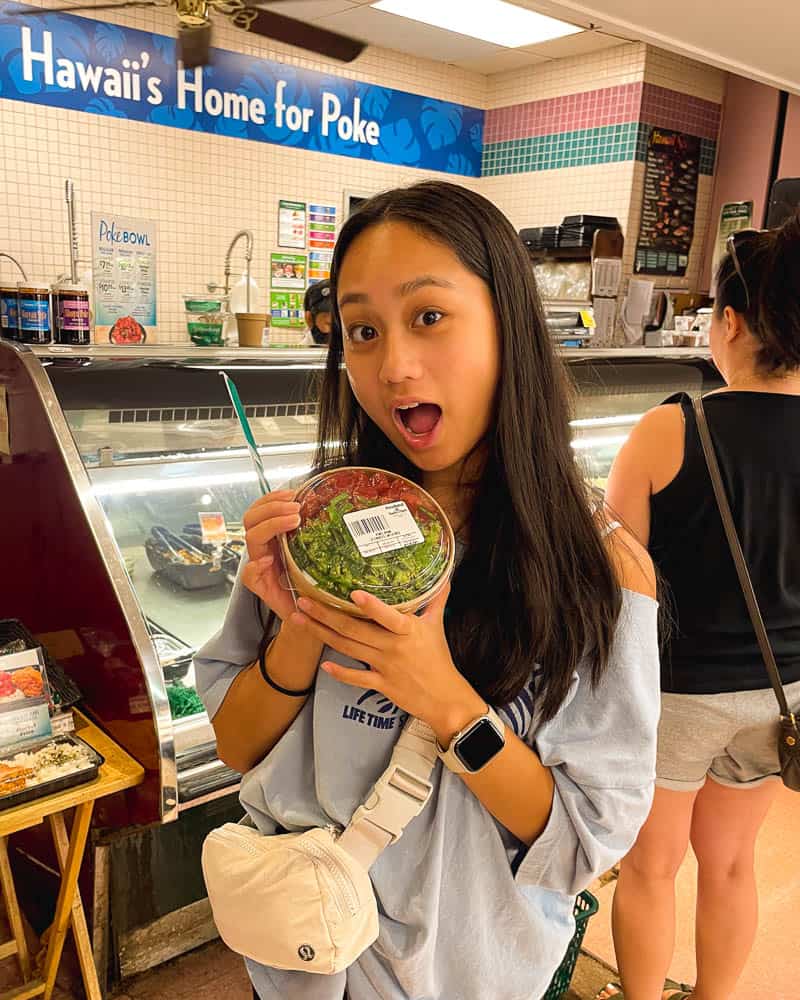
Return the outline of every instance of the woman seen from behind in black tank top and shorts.
[[[798,710],[800,221],[736,234],[717,289],[711,351],[727,385],[705,408],[787,699]],[[664,976],[674,947],[674,879],[691,841],[699,865],[692,997],[725,1000],[756,933],[754,849],[778,788],[778,708],[688,396],[641,420],[607,496],[649,542],[677,619],[662,671],[653,810],[622,863],[614,898],[624,993],[627,1000],[686,996],[664,990]]]

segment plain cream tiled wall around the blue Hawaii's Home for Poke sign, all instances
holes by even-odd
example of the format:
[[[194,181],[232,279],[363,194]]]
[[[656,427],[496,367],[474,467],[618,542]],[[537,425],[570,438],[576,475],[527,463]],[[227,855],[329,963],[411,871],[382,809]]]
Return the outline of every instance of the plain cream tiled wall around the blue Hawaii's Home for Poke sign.
[[[115,19],[172,33],[173,20],[161,11],[118,12]],[[261,44],[226,25],[223,18],[215,21],[214,45],[222,49],[475,107],[486,104],[488,81],[477,73],[372,48],[355,65],[342,66]],[[266,307],[278,199],[336,205],[341,212],[345,190],[373,193],[427,176],[389,164],[2,99],[0,134],[0,249],[18,256],[31,277],[52,282],[65,273],[67,177],[75,182],[82,257],[91,256],[92,211],[156,222],[162,343],[187,339],[181,294],[222,281],[228,244],[242,228],[254,233],[253,276],[262,292],[257,305]],[[241,267],[234,259],[234,282]],[[0,259],[0,278],[12,276]]]

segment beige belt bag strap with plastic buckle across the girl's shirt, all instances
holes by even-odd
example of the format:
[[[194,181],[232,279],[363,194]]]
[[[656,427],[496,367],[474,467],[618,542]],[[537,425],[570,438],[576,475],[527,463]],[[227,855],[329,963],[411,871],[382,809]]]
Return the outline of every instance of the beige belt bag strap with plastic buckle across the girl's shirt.
[[[367,870],[425,808],[437,759],[433,730],[427,722],[409,717],[389,766],[337,841]]]

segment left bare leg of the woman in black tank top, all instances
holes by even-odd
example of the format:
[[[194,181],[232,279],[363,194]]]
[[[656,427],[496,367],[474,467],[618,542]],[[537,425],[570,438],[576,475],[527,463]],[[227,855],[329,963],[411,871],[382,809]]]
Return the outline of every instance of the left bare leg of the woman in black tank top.
[[[661,1000],[675,947],[675,876],[689,846],[697,792],[656,788],[620,865],[612,927],[625,1000]]]

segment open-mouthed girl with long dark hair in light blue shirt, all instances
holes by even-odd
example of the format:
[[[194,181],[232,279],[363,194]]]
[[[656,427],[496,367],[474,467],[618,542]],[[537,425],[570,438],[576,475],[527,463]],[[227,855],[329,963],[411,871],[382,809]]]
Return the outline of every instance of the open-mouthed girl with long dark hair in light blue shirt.
[[[575,894],[650,807],[652,566],[593,513],[533,271],[490,202],[444,183],[379,195],[345,223],[331,280],[317,465],[420,483],[458,565],[419,616],[359,592],[369,621],[296,611],[275,540],[298,505],[291,491],[257,501],[227,619],[196,660],[220,756],[272,833],[346,825],[407,713],[447,748],[494,706],[504,743],[475,773],[437,763],[427,807],[370,870],[380,936],[346,974],[250,975],[262,1000],[533,1000]],[[363,724],[378,707],[393,729]]]

